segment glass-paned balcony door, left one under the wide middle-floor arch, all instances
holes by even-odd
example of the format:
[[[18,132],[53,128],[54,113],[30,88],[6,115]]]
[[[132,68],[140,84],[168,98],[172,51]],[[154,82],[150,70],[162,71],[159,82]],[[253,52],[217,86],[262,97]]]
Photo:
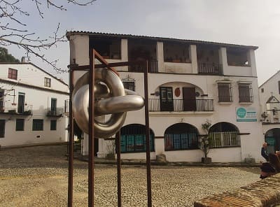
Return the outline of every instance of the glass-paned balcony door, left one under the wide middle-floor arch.
[[[160,110],[174,110],[172,87],[160,87]]]

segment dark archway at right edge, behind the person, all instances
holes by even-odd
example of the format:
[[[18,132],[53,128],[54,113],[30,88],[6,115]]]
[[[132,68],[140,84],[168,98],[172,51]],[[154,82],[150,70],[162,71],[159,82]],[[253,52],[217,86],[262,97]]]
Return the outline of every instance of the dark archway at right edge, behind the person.
[[[280,150],[280,129],[273,128],[265,132],[265,142],[267,143],[267,153],[274,153]]]

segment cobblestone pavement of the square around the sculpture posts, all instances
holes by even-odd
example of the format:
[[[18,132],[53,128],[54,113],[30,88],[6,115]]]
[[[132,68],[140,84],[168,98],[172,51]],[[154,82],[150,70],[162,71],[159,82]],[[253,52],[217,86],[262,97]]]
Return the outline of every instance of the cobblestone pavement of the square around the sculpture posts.
[[[0,206],[67,206],[66,146],[0,151]],[[87,206],[87,163],[75,160],[73,206]],[[147,206],[146,166],[122,166],[123,206]],[[118,206],[116,166],[94,170],[94,206]],[[193,206],[210,194],[259,180],[253,167],[152,166],[153,206]]]

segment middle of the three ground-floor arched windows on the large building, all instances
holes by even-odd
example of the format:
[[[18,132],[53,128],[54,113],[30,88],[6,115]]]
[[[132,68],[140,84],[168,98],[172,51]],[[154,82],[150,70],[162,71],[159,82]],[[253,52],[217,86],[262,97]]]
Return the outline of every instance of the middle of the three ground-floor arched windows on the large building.
[[[165,130],[165,151],[198,149],[198,130],[191,124],[177,123]]]

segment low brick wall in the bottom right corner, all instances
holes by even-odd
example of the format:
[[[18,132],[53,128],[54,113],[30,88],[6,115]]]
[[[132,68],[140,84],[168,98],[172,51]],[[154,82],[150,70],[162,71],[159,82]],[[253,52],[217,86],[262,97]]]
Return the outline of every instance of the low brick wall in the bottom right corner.
[[[280,204],[280,173],[237,190],[214,194],[195,201],[195,207],[270,207]]]

